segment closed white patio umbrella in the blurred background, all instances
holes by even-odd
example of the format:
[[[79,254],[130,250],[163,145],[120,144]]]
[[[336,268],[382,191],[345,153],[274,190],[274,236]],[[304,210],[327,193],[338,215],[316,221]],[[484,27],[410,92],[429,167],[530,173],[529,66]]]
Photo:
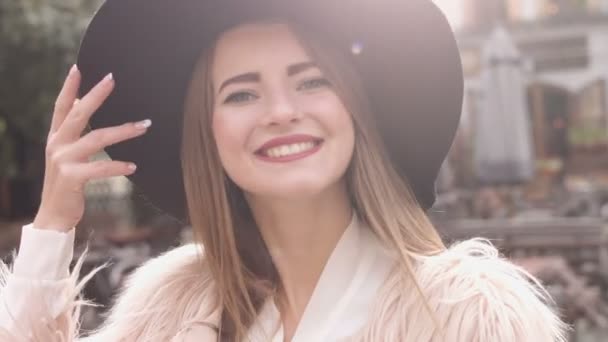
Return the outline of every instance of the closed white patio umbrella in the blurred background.
[[[523,59],[502,27],[482,50],[480,99],[474,128],[474,166],[485,184],[529,180],[534,173]]]

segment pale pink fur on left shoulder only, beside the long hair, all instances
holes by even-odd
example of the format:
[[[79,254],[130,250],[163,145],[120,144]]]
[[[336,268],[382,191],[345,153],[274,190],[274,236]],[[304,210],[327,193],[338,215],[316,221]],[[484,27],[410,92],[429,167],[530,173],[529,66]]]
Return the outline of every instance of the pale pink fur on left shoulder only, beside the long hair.
[[[139,267],[104,325],[83,342],[215,341],[220,314],[202,251],[179,247]],[[203,336],[203,339],[200,337]]]

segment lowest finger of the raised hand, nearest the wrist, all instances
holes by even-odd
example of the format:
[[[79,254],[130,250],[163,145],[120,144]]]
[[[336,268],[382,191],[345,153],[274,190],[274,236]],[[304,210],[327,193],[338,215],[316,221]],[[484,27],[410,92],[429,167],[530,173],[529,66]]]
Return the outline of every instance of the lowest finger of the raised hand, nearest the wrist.
[[[69,166],[69,173],[79,184],[95,179],[116,176],[128,176],[135,172],[134,163],[116,160],[96,160],[87,163],[77,163]]]

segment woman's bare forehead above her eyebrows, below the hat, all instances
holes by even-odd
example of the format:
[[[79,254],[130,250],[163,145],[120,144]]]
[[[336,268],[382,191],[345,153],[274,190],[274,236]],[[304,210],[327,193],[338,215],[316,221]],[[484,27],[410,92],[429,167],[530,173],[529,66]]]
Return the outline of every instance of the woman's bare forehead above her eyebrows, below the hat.
[[[284,23],[243,24],[223,33],[215,47],[213,78],[304,62],[308,54]]]

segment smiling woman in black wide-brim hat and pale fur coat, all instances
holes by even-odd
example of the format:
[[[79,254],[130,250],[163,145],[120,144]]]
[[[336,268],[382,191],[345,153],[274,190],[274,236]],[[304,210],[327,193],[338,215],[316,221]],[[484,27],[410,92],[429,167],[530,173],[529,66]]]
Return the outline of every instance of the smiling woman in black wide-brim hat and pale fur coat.
[[[4,272],[5,339],[565,340],[538,282],[487,242],[446,249],[425,215],[462,97],[430,2],[107,0],[78,67]],[[82,185],[117,175],[196,243],[140,267],[81,338],[72,227]]]

